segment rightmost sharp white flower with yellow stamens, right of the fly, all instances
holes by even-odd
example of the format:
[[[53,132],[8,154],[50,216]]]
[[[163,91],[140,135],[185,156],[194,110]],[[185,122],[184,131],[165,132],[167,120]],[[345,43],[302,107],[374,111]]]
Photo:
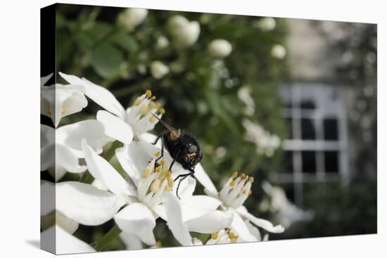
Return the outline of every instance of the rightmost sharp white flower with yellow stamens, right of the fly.
[[[257,233],[252,231],[250,225],[247,223],[249,221],[255,224],[255,226],[259,226],[271,233],[284,232],[283,226],[273,226],[270,221],[259,219],[253,214],[250,214],[246,207],[243,206],[243,202],[245,202],[248,195],[251,194],[250,188],[252,183],[253,177],[246,176],[246,174],[238,176],[238,173],[234,172],[219,193],[213,184],[210,188],[204,189],[205,193],[213,198],[218,198],[218,200],[222,202],[222,209],[233,214],[234,220],[232,221],[230,228],[237,236],[239,236],[241,242],[260,240],[257,237]]]

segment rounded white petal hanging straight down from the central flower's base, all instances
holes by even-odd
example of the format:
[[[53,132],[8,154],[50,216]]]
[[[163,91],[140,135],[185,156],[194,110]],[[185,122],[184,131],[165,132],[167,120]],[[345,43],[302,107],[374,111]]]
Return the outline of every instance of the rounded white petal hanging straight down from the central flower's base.
[[[137,236],[146,245],[155,245],[153,228],[155,218],[146,205],[136,202],[128,205],[114,216],[115,223],[125,233]]]

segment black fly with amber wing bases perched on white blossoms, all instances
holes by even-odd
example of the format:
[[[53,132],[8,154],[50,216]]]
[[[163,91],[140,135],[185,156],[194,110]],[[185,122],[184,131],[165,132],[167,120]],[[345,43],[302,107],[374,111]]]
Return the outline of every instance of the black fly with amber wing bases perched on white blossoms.
[[[153,114],[152,114],[153,115]],[[156,117],[156,115],[153,115]],[[179,187],[180,183],[184,179],[186,179],[188,176],[192,176],[194,179],[196,177],[194,176],[195,173],[195,166],[199,162],[201,162],[203,158],[203,153],[201,152],[201,148],[196,141],[196,139],[191,136],[190,134],[184,133],[184,131],[180,131],[171,127],[169,124],[164,122],[163,120],[160,120],[158,117],[156,117],[161,124],[164,125],[164,127],[168,130],[165,131],[163,134],[160,134],[153,145],[155,145],[158,140],[161,138],[161,155],[157,158],[156,162],[160,160],[164,155],[164,148],[170,153],[173,161],[170,165],[170,170],[172,169],[172,166],[175,164],[175,162],[179,162],[180,165],[184,169],[187,169],[189,173],[186,174],[180,174],[177,176],[177,178],[174,181],[177,181],[179,179],[179,183],[176,188],[176,195],[177,198],[179,198]],[[180,199],[180,198],[179,198]]]

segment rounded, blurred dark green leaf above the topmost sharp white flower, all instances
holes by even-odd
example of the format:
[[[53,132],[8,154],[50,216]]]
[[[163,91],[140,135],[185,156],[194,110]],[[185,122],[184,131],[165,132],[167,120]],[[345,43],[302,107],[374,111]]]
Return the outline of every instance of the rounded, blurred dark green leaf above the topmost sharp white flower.
[[[118,75],[124,57],[115,46],[103,43],[97,46],[91,55],[91,66],[105,79]]]

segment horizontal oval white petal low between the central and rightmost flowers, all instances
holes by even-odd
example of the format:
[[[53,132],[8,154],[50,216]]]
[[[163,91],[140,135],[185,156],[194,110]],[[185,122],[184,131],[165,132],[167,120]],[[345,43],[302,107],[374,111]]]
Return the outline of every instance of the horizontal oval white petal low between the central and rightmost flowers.
[[[196,219],[186,221],[189,231],[199,233],[214,233],[222,228],[228,228],[233,221],[233,215],[220,210],[208,212]]]

